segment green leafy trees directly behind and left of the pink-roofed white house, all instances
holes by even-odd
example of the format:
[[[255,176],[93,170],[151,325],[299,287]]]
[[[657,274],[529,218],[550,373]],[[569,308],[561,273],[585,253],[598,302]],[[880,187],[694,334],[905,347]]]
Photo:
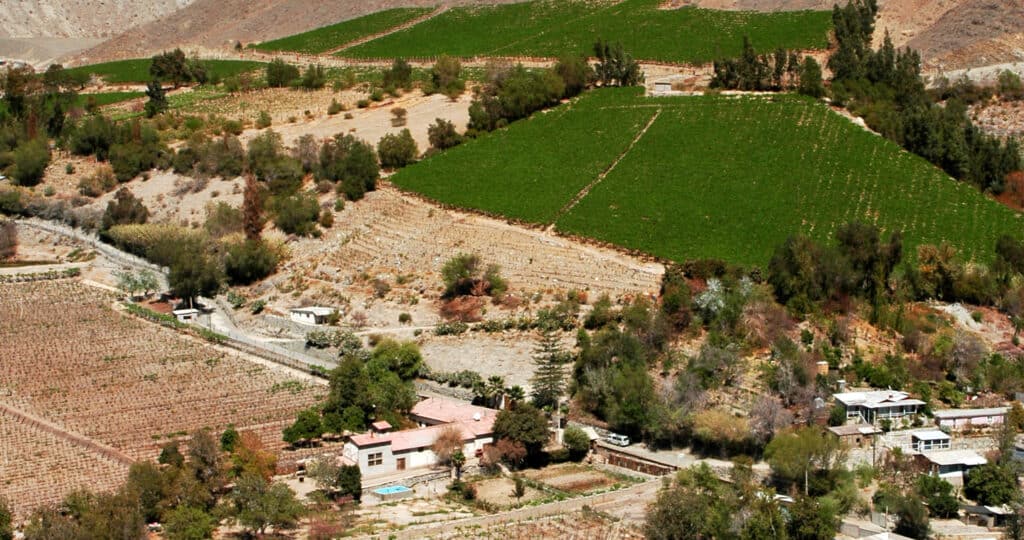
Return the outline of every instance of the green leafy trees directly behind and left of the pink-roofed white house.
[[[299,413],[285,428],[285,442],[294,445],[328,432],[358,432],[377,420],[402,425],[402,414],[416,404],[412,381],[423,365],[416,343],[385,339],[367,350],[360,340],[344,339],[339,349],[326,400]]]

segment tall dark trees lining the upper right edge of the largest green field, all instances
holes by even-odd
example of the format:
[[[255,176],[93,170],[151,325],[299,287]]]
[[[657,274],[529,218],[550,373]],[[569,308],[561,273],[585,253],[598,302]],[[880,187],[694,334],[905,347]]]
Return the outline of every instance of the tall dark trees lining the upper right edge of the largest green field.
[[[922,156],[950,176],[999,194],[1006,177],[1021,169],[1016,141],[1001,141],[975,127],[958,98],[935,103],[921,79],[921,57],[896,50],[886,36],[878,50],[871,36],[878,5],[851,0],[833,11],[838,48],[828,59],[831,95],[862,116],[872,129]]]

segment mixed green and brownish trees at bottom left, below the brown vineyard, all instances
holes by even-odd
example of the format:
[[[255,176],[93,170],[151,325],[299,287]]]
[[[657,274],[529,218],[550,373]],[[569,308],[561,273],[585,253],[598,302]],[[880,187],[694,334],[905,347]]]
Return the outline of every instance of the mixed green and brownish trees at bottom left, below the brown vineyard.
[[[114,493],[77,491],[57,505],[36,509],[25,536],[142,538],[155,522],[170,540],[210,538],[221,523],[238,524],[249,534],[268,527],[292,529],[304,508],[291,489],[270,482],[275,463],[253,433],[229,427],[218,442],[210,431],[199,430],[188,439],[187,455],[176,442],[169,443],[159,464],[132,464]],[[9,532],[10,513],[0,501],[0,537]]]

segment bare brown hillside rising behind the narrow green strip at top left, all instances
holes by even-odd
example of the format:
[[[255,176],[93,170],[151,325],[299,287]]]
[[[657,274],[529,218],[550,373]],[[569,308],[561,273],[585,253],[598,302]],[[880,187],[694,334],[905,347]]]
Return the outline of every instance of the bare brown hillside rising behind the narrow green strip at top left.
[[[516,0],[455,0],[450,5],[498,4]],[[196,0],[188,7],[133,28],[84,51],[79,61],[151,54],[175,47],[220,47],[236,41],[266,41],[394,7],[437,5],[437,0]]]

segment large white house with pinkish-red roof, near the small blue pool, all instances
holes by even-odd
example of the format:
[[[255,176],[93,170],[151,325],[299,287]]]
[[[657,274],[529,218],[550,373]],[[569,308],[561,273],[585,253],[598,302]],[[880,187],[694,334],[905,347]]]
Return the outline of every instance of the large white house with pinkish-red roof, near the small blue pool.
[[[342,453],[358,464],[364,477],[431,467],[437,464],[434,442],[445,429],[457,429],[462,435],[463,454],[478,457],[483,446],[494,442],[497,416],[494,409],[428,398],[410,413],[420,427],[390,431],[387,422],[378,422],[370,431],[349,437]]]

